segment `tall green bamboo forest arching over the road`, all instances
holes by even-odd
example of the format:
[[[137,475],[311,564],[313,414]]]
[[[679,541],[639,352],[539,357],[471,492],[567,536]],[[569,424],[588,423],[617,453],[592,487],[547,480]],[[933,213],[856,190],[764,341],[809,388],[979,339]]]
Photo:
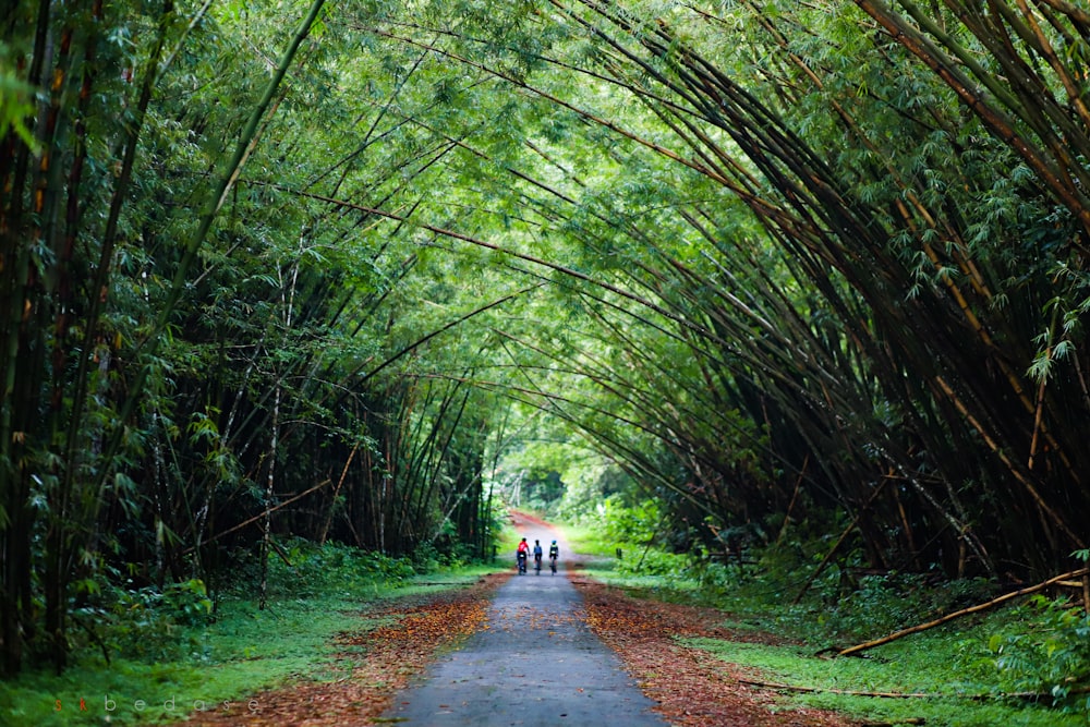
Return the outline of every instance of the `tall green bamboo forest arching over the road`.
[[[526,512],[1090,718],[1086,0],[0,19],[0,686]]]

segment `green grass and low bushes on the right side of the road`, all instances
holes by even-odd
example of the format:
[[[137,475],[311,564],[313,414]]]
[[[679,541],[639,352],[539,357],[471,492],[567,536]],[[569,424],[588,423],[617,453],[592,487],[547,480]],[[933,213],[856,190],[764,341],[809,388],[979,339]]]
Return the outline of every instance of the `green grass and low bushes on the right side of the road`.
[[[712,607],[725,628],[770,637],[680,642],[742,666],[750,686],[777,694],[784,708],[813,706],[892,725],[1090,723],[1081,688],[1090,675],[1090,618],[1069,587],[838,657],[836,650],[986,603],[998,586],[984,579],[861,573],[858,557],[849,555],[796,604],[818,566],[803,554],[819,553],[821,542],[746,548],[738,565],[722,554],[669,552],[654,532],[655,514],[651,502],[607,501],[567,528],[572,548],[595,556],[581,568],[630,595]]]

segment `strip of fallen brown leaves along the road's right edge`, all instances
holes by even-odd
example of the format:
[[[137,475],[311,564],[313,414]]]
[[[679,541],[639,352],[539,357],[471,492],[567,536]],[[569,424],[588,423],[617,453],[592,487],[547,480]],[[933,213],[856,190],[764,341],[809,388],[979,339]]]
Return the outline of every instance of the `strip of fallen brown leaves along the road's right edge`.
[[[818,710],[772,713],[767,693],[738,682],[738,667],[675,635],[763,641],[718,626],[723,615],[628,597],[601,583],[572,580],[583,595],[588,623],[625,662],[640,689],[658,702],[655,710],[676,727],[848,727],[846,717]]]

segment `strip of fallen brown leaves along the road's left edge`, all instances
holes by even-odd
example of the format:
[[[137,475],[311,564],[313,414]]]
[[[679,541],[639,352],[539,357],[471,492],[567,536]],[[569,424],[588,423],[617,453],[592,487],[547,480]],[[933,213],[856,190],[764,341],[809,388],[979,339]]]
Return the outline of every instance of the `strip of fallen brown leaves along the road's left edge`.
[[[340,727],[379,724],[395,693],[423,673],[440,652],[484,628],[493,591],[509,573],[481,579],[475,585],[439,595],[400,599],[367,617],[388,615],[396,622],[346,632],[336,645],[346,651],[344,676],[335,681],[302,682],[276,689],[226,708],[194,713],[185,727]],[[362,654],[348,654],[350,650]]]

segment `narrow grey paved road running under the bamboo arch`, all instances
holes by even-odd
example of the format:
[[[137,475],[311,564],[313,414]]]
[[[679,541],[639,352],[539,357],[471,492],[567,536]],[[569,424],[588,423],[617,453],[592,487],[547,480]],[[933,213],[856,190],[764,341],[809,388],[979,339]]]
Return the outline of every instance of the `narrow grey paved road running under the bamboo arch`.
[[[528,528],[548,553],[553,533]],[[560,543],[560,555],[566,544]],[[562,558],[561,558],[562,560]],[[513,570],[513,568],[512,568]],[[585,623],[582,598],[561,567],[513,575],[499,587],[488,628],[397,695],[386,718],[410,727],[664,727],[620,659]]]

